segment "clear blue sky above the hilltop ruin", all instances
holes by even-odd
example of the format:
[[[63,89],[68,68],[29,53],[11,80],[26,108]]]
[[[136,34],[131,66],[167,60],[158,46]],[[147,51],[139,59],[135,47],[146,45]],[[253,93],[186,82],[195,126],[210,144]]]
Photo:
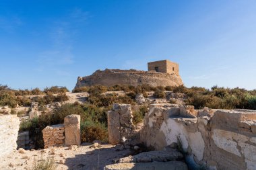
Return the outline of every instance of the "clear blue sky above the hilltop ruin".
[[[256,89],[256,1],[1,0],[0,58],[14,89],[73,89],[97,69],[162,59],[188,87]]]

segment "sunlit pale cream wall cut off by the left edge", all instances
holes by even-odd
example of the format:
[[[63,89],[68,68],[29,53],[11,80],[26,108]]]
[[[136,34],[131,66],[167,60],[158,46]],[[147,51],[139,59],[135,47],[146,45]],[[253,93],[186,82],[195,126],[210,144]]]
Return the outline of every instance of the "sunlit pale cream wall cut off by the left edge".
[[[19,128],[20,120],[17,115],[0,115],[0,157],[16,150]]]

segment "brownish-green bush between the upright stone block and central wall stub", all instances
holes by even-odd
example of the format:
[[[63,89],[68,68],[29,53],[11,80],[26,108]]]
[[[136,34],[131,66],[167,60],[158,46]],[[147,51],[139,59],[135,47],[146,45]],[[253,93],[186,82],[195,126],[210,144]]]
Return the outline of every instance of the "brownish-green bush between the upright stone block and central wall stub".
[[[81,142],[94,140],[108,141],[108,130],[105,124],[86,121],[81,124]]]

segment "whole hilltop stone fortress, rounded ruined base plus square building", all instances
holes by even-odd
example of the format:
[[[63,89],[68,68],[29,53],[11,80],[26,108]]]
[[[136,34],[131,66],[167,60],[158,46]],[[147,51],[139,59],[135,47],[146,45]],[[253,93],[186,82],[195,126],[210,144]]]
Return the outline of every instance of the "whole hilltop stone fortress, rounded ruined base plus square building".
[[[92,75],[78,77],[75,87],[90,85],[152,85],[179,86],[183,81],[179,75],[179,65],[170,60],[148,62],[148,71],[134,69],[105,69],[97,70]]]

